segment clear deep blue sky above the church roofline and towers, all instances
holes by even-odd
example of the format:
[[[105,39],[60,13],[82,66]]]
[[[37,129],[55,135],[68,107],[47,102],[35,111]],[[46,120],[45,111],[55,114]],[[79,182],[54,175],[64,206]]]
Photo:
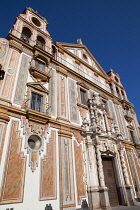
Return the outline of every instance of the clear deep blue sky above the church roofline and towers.
[[[140,120],[139,0],[2,1],[1,37],[25,7],[47,19],[53,42],[76,43],[82,38],[106,72],[110,68],[117,72]]]

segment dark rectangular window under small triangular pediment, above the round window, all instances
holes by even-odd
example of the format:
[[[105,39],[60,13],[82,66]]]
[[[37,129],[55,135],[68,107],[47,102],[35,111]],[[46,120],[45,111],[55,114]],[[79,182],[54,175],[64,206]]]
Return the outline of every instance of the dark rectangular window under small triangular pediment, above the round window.
[[[37,112],[42,112],[42,108],[43,108],[43,96],[33,93],[31,95],[31,109],[37,111]]]

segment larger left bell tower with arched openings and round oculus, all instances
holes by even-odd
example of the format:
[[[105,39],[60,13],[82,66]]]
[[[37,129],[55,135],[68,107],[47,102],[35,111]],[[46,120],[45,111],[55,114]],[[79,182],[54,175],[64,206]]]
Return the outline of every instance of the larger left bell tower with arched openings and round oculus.
[[[37,11],[26,7],[23,14],[17,16],[7,38],[17,41],[22,46],[28,46],[30,49],[37,46],[50,53],[52,38],[46,30],[47,25],[47,20]]]

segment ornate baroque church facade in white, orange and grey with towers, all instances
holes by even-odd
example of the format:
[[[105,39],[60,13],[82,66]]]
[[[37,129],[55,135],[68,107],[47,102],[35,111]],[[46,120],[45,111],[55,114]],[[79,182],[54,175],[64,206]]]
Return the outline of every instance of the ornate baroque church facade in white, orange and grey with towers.
[[[140,126],[120,77],[32,8],[0,38],[0,210],[140,200]]]

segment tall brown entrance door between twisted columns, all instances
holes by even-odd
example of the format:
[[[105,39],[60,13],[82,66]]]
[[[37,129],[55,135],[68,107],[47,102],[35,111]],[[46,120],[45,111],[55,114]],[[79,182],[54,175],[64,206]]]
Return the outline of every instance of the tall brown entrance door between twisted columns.
[[[102,162],[103,162],[105,184],[106,187],[109,189],[108,194],[109,194],[110,205],[118,206],[119,199],[118,199],[118,192],[117,192],[115,174],[113,169],[113,161],[111,158],[103,157]]]

